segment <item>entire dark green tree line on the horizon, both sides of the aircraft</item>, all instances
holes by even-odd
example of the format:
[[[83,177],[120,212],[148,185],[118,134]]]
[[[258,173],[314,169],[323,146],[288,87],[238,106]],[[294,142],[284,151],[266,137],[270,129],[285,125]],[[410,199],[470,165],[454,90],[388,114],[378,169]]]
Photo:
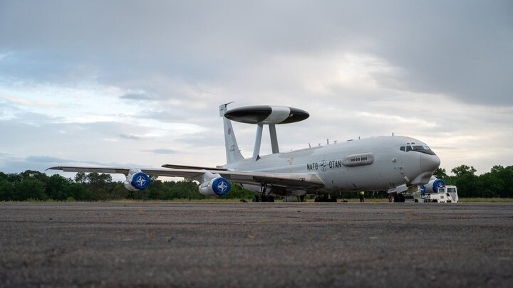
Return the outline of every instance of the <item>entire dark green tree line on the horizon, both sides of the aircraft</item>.
[[[472,166],[461,165],[447,175],[445,169],[437,169],[435,176],[447,185],[458,187],[458,194],[463,198],[513,198],[513,166],[493,166],[479,176]],[[347,195],[346,195],[347,194]],[[354,194],[354,195],[353,195]],[[385,197],[381,192],[376,196]],[[250,199],[254,193],[232,185],[232,190],[222,198]],[[345,193],[343,198],[356,197],[356,193]],[[378,197],[379,197],[378,196]],[[142,191],[128,191],[123,182],[113,181],[109,174],[83,172],[74,179],[58,174],[48,176],[39,171],[27,170],[19,174],[0,172],[0,201],[105,201],[120,199],[138,200],[173,200],[208,198],[197,190],[197,183],[184,179],[182,181],[161,181],[152,177],[150,186]]]

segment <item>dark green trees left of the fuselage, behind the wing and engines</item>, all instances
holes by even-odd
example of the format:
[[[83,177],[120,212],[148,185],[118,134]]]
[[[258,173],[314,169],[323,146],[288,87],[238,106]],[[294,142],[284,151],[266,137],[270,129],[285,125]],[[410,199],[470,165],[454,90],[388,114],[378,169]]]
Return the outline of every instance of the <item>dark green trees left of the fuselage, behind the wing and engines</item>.
[[[0,172],[0,201],[105,201],[121,199],[172,200],[203,199],[197,183],[160,181],[151,177],[150,186],[142,191],[129,191],[121,181],[113,181],[109,174],[79,172],[74,179],[58,174],[48,176],[39,171],[27,170],[19,174]],[[252,198],[253,193],[232,186],[222,198]]]

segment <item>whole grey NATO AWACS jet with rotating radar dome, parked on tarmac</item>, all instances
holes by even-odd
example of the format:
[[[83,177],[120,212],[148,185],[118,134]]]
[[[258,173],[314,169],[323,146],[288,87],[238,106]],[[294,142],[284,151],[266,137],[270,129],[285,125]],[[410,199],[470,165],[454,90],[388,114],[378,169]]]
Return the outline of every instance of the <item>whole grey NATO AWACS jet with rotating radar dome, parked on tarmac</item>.
[[[166,164],[157,169],[78,166],[49,169],[124,174],[125,187],[132,191],[146,188],[149,176],[172,176],[198,181],[199,193],[206,196],[228,193],[231,182],[256,192],[254,201],[274,201],[273,195],[294,195],[302,201],[306,194],[315,194],[316,201],[336,201],[331,195],[343,191],[387,190],[428,183],[440,165],[440,159],[425,143],[398,136],[371,137],[280,153],[276,124],[309,117],[308,112],[292,107],[250,106],[228,110],[224,104],[219,106],[219,115],[224,122],[227,156],[227,164],[222,166]],[[257,126],[251,158],[244,158],[239,151],[231,120]],[[269,126],[272,154],[261,156],[264,125]]]

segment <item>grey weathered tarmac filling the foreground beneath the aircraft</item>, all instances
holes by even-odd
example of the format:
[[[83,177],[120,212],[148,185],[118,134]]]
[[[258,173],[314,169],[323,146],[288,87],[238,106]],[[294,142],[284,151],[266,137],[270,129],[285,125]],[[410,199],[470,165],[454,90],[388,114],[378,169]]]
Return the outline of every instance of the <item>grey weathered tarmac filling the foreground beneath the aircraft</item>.
[[[1,287],[513,287],[513,203],[0,203]]]

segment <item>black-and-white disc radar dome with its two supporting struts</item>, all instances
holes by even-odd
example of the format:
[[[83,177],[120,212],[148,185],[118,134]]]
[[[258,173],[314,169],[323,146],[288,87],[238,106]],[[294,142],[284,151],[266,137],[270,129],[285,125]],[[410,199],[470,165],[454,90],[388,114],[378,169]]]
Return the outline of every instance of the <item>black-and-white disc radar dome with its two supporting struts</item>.
[[[279,153],[278,137],[276,135],[276,124],[289,124],[302,121],[308,118],[310,114],[304,110],[284,107],[284,106],[248,106],[239,107],[224,113],[227,119],[247,123],[257,124],[257,134],[253,148],[253,159],[260,159],[260,146],[264,125],[269,125],[269,134],[271,136],[272,153]]]

